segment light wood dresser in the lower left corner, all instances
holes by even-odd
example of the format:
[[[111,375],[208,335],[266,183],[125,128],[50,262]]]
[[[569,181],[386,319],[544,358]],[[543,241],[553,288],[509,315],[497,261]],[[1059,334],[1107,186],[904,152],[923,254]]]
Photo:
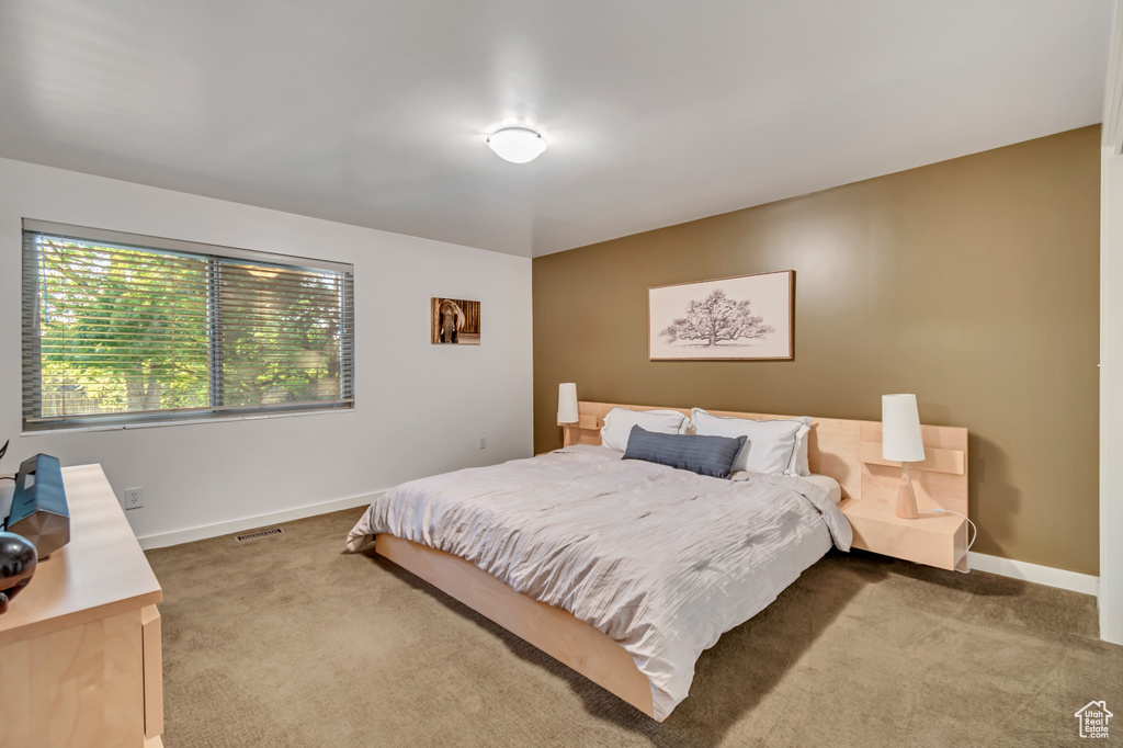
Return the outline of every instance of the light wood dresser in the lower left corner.
[[[101,466],[63,481],[71,541],[0,615],[0,745],[163,746],[159,583]]]

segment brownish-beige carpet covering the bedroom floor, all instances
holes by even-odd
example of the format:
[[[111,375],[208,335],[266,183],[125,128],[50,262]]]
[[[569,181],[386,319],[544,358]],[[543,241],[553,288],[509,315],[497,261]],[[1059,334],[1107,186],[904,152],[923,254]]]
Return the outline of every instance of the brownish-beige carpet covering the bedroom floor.
[[[704,653],[658,724],[385,560],[362,510],[148,553],[167,748],[1062,746],[1123,647],[1087,595],[832,551]]]

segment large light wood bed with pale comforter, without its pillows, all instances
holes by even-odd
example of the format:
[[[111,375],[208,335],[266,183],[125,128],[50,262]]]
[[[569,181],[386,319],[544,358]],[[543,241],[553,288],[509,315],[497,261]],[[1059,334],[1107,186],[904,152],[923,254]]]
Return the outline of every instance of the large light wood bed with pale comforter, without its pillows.
[[[581,403],[560,450],[393,489],[364,513],[348,549],[373,542],[663,721],[721,633],[767,606],[832,546],[849,549],[850,526],[836,501],[876,483],[861,458],[862,434],[871,431],[868,422],[812,421],[807,460],[834,478],[840,495],[832,498],[793,475],[728,481],[622,460],[600,445],[613,408]]]

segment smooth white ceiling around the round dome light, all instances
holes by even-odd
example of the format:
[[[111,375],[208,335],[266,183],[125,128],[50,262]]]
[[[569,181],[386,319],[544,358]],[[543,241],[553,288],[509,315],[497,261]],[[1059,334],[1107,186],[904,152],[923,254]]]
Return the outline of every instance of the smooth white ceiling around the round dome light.
[[[1113,7],[0,0],[0,156],[539,256],[1098,122]]]

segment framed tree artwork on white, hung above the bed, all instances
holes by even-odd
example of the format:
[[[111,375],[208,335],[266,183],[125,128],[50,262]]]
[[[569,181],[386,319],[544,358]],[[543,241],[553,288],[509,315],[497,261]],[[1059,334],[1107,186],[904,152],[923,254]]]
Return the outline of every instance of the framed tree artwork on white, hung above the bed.
[[[651,361],[791,361],[795,271],[648,289]]]

